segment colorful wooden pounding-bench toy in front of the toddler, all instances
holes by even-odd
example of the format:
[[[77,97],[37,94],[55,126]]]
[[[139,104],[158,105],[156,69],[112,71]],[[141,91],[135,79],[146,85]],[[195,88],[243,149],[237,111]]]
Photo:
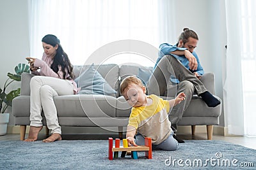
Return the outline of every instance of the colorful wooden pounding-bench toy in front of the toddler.
[[[115,147],[113,147],[113,138],[108,138],[108,159],[118,158],[118,152],[121,157],[125,157],[127,152],[131,152],[132,159],[138,159],[138,153],[144,151],[147,159],[152,159],[152,141],[151,138],[145,138],[145,146],[128,146],[127,139],[123,139],[123,146],[120,146],[120,139],[115,139]]]

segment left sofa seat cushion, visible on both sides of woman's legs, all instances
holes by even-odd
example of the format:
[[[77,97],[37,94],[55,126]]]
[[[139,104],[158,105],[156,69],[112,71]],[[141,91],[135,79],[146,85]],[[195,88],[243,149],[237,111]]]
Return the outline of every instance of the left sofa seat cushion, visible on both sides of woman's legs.
[[[13,99],[13,116],[29,117],[30,96]],[[68,95],[54,97],[58,117],[116,117],[116,97],[103,95]],[[22,108],[22,109],[20,109]]]

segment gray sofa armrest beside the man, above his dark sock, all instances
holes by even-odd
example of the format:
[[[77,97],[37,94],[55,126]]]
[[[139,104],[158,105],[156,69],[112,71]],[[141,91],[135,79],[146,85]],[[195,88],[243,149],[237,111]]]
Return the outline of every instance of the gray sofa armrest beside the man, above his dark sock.
[[[204,87],[209,92],[211,92],[211,94],[215,94],[215,82],[213,73],[205,73],[200,80],[202,81],[202,83],[204,83]]]

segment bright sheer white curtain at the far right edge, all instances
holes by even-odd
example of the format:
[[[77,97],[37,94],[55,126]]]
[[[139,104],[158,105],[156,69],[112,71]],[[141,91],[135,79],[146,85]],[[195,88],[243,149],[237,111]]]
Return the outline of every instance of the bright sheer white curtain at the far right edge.
[[[256,1],[241,0],[244,134],[256,136]]]

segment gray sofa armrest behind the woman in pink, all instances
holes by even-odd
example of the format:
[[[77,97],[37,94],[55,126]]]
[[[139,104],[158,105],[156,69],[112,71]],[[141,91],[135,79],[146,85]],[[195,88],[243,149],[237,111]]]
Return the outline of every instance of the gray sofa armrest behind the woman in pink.
[[[30,96],[30,80],[35,74],[22,73],[21,74],[21,89],[20,96]]]

